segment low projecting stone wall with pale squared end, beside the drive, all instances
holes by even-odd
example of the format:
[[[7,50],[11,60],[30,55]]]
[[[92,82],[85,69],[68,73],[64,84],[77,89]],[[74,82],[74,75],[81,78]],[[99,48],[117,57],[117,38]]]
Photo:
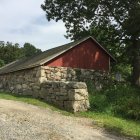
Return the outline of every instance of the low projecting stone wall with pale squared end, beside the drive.
[[[83,82],[47,82],[41,84],[39,95],[62,109],[79,112],[89,108],[87,86]]]

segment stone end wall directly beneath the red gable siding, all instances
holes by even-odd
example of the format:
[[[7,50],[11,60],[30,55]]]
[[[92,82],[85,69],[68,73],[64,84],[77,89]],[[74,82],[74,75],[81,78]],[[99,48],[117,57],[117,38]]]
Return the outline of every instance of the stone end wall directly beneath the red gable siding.
[[[49,81],[92,81],[93,85],[100,89],[109,83],[110,75],[107,72],[87,70],[87,69],[73,69],[66,67],[42,67],[42,76],[44,80]]]

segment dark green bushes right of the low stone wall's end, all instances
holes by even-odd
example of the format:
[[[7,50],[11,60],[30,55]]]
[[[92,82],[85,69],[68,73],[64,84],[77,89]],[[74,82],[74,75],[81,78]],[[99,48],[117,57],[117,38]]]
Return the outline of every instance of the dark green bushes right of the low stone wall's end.
[[[128,84],[114,84],[90,93],[91,111],[140,120],[140,89]]]

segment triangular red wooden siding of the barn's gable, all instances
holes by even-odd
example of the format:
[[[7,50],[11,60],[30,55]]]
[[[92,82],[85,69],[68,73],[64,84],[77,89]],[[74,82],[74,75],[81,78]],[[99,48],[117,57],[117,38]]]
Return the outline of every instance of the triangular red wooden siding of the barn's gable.
[[[88,39],[45,65],[109,71],[109,61],[109,55]]]

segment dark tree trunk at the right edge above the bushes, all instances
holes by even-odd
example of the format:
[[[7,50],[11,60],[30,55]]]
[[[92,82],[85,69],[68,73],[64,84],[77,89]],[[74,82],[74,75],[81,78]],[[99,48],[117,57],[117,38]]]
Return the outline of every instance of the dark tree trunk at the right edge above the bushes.
[[[140,42],[133,41],[133,84],[140,87]]]

